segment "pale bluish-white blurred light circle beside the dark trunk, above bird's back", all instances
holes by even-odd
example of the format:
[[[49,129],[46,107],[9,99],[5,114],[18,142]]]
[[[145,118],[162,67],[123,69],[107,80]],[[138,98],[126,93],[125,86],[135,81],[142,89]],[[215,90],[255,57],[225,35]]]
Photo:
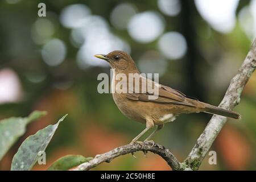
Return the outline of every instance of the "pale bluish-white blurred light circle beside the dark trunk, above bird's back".
[[[168,59],[180,59],[187,52],[187,42],[179,32],[167,32],[162,35],[158,47]]]

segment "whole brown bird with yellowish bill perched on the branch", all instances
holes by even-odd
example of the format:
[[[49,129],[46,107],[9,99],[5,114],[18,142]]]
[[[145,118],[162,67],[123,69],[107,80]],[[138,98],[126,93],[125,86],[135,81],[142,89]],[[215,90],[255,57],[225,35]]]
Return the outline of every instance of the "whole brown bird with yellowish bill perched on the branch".
[[[156,131],[163,128],[164,123],[174,121],[177,115],[183,113],[204,112],[234,119],[240,118],[238,113],[200,102],[195,98],[185,96],[178,90],[141,76],[131,56],[124,51],[113,51],[108,55],[95,55],[95,57],[108,61],[110,67],[114,69],[112,89],[115,88],[115,92],[112,91],[112,93],[119,110],[130,119],[146,123],[146,129],[135,137],[131,143],[136,142],[146,131],[156,125],[155,131],[145,139],[149,140]],[[125,75],[127,80],[117,80],[115,76],[119,73]],[[135,77],[129,79],[130,73],[133,73]],[[139,80],[139,85],[134,84],[136,79]],[[120,84],[120,82],[125,82],[127,88],[118,88],[117,84]],[[158,97],[154,97],[148,89],[142,91],[143,84],[151,84],[157,88]],[[121,89],[125,89],[127,92],[121,92]]]

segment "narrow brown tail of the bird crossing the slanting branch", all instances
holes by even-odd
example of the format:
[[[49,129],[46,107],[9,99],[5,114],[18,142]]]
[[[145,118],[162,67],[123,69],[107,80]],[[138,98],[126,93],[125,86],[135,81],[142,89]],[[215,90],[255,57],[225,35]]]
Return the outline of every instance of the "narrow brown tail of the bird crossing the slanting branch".
[[[210,114],[217,114],[217,115],[222,115],[225,117],[229,117],[229,118],[234,118],[234,119],[240,119],[241,115],[234,112],[234,111],[230,111],[230,110],[226,110],[226,109],[222,109],[220,107],[216,107],[216,106],[212,106],[212,105],[208,105],[205,106],[205,113],[210,113]]]

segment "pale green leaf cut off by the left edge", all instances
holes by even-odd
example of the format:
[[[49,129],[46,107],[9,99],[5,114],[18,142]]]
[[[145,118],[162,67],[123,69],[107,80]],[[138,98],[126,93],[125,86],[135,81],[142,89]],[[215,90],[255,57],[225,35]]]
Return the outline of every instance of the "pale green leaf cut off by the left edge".
[[[34,111],[27,118],[7,118],[0,121],[0,160],[26,131],[26,125],[46,115],[46,111]]]

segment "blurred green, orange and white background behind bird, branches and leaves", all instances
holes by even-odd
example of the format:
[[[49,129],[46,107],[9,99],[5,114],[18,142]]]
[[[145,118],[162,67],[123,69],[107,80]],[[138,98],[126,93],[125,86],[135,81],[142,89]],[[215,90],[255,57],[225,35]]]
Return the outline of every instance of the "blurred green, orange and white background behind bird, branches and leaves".
[[[95,156],[127,144],[144,125],[126,118],[111,94],[99,94],[99,73],[110,68],[93,57],[121,49],[143,73],[187,96],[218,105],[256,36],[256,0],[44,1],[0,2],[0,119],[33,110],[48,115],[28,125],[27,133],[0,162],[9,170],[13,155],[28,135],[68,113],[46,150],[47,167],[61,156]],[[256,169],[256,73],[200,169]],[[210,114],[183,114],[155,135],[183,161],[207,125]],[[146,135],[144,136],[146,137]],[[168,170],[158,155],[121,156],[94,168]]]

